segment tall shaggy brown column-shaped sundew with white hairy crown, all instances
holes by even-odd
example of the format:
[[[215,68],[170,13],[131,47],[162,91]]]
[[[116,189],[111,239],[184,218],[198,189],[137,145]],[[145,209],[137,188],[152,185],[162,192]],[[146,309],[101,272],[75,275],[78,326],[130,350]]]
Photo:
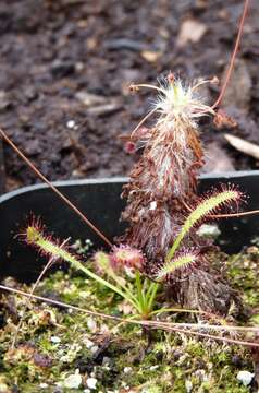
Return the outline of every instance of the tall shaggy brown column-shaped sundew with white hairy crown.
[[[197,194],[203,165],[198,120],[206,115],[218,117],[198,94],[207,82],[214,79],[189,86],[170,74],[158,87],[132,86],[157,91],[149,114],[157,118],[152,127],[136,128],[131,135],[134,143],[144,145],[144,152],[123,190],[127,205],[122,218],[128,229],[122,241],[144,252],[143,270],[168,283],[176,302],[226,313],[234,293],[208,265],[205,250],[212,243],[196,229],[218,211],[232,211],[242,193],[227,186],[201,198]]]

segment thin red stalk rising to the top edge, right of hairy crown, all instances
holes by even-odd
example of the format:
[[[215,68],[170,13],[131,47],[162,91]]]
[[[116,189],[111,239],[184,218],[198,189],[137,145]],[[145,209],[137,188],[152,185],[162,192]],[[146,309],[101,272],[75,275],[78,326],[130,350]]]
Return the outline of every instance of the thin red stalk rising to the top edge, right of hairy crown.
[[[249,5],[249,0],[245,0],[244,2],[244,10],[242,13],[242,17],[240,17],[240,22],[239,22],[239,26],[238,26],[238,33],[237,33],[237,37],[236,37],[236,41],[235,41],[235,47],[233,49],[232,56],[231,56],[231,60],[230,60],[230,66],[229,69],[226,71],[226,75],[225,75],[225,80],[224,83],[222,85],[221,92],[219,94],[219,97],[217,98],[215,103],[212,105],[212,109],[214,109],[215,107],[218,107],[220,105],[220,103],[222,102],[227,84],[230,82],[231,79],[231,74],[234,68],[234,62],[235,62],[235,58],[236,58],[236,53],[240,44],[240,38],[242,38],[242,34],[243,34],[243,27],[244,27],[244,23],[245,23],[245,19],[247,15],[247,11],[248,11],[248,5]]]

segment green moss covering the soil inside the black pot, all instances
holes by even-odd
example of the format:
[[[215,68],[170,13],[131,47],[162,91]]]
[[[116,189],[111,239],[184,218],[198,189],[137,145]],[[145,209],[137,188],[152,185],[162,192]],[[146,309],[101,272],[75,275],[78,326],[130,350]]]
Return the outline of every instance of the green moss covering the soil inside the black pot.
[[[255,309],[254,323],[259,323],[258,262],[256,249],[226,260],[230,279]],[[29,290],[26,286],[23,289]],[[57,272],[40,283],[37,293],[86,309],[122,314],[119,296],[81,274]],[[7,297],[5,301],[14,302],[17,313],[27,307],[21,297]],[[77,392],[84,392],[90,376],[98,380],[97,392],[136,388],[143,393],[185,393],[188,385],[192,392],[200,393],[249,392],[236,379],[240,369],[252,372],[245,347],[162,331],[152,332],[148,346],[139,326],[124,324],[111,334],[114,322],[32,301],[12,353],[16,321],[11,313],[7,318],[0,335],[0,382],[10,390],[17,385],[21,392],[33,393],[41,391],[40,383],[47,383],[42,391],[53,392],[57,383],[62,384],[78,370],[83,384]],[[188,318],[185,314],[181,320],[189,322]]]

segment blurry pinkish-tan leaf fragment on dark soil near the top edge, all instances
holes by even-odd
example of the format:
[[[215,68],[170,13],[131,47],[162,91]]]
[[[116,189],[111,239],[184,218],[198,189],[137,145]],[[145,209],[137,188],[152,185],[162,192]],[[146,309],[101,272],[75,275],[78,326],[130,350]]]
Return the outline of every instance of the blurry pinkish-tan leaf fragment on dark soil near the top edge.
[[[185,20],[181,27],[176,39],[177,47],[184,47],[188,41],[198,43],[205,35],[208,27],[194,19]]]

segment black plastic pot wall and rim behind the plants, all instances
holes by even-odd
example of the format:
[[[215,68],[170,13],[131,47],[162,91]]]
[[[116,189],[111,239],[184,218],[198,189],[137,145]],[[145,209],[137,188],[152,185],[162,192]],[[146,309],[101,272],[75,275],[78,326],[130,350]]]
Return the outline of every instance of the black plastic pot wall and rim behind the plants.
[[[119,222],[124,201],[120,194],[126,178],[73,180],[55,186],[109,238],[122,234]],[[200,178],[200,192],[219,183],[234,183],[249,198],[246,210],[259,209],[259,171],[206,175]],[[23,282],[35,279],[42,259],[17,235],[34,214],[40,216],[48,231],[65,239],[89,238],[95,248],[106,245],[45,184],[25,187],[0,196],[0,277],[14,276]],[[229,218],[219,222],[220,243],[226,252],[237,252],[259,236],[259,217]]]

